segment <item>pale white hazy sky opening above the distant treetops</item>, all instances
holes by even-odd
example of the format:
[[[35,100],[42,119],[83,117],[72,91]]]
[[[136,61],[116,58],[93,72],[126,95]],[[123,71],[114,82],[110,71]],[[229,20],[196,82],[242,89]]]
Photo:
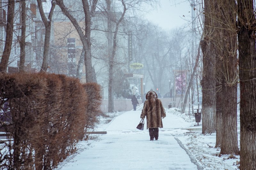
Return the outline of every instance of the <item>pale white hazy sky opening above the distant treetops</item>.
[[[160,0],[161,6],[145,15],[146,19],[169,30],[180,27],[191,20],[189,0]],[[183,17],[183,15],[185,17]]]

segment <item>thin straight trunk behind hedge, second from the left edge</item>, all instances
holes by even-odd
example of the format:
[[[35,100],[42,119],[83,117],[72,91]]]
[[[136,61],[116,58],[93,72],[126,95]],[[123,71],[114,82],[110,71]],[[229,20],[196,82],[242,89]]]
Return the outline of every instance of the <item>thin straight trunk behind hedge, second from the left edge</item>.
[[[20,65],[19,72],[25,71],[26,45],[26,1],[21,2],[21,38],[20,38]]]

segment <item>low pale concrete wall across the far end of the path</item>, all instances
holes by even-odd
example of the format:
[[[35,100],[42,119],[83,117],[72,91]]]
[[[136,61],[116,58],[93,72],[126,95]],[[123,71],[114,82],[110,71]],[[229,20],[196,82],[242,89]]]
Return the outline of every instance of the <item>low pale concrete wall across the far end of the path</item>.
[[[174,107],[174,103],[175,103],[175,107],[181,108],[181,102],[180,102],[180,98],[176,98],[176,102],[172,102],[172,98],[159,98],[162,103],[163,106],[168,108],[169,103],[172,103],[172,107]],[[140,104],[142,104],[142,100],[138,100]],[[187,101],[187,107],[189,106],[189,102]],[[133,109],[132,106],[132,101],[131,99],[114,99],[114,110],[118,111],[118,112],[122,112],[122,111],[130,111]],[[102,100],[102,105],[101,105],[101,110],[102,112],[108,112],[108,100]]]

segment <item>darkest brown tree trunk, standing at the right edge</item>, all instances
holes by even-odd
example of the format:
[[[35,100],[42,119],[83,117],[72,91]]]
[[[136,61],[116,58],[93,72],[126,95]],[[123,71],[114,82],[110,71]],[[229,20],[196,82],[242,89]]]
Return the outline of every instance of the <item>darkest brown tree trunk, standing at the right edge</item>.
[[[256,49],[252,0],[238,0],[240,78],[240,169],[256,167]],[[245,25],[246,23],[246,25]],[[248,25],[251,23],[252,25]]]

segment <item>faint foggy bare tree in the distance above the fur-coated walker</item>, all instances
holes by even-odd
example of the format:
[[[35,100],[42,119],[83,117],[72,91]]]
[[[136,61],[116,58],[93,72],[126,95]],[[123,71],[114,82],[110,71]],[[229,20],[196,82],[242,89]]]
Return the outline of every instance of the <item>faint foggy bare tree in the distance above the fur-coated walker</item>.
[[[136,35],[138,49],[135,48],[134,51],[136,50],[138,54],[135,57],[139,62],[144,63],[145,78],[149,78],[148,84],[152,84],[154,90],[158,88],[156,91],[158,93],[159,89],[164,91],[164,80],[168,78],[167,75],[171,75],[170,70],[177,66],[174,58],[177,55],[183,56],[182,51],[185,46],[181,46],[182,41],[176,39],[180,36],[179,31],[174,32],[173,37],[170,38],[165,31],[152,23],[146,23],[141,27]],[[174,51],[177,53],[174,54]]]

